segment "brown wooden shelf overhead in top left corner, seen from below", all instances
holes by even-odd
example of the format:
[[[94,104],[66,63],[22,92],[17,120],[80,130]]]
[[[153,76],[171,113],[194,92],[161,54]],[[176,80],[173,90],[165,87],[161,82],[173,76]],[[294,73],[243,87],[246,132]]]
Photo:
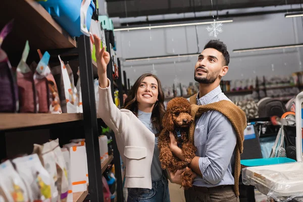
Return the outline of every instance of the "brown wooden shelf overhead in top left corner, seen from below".
[[[0,29],[14,19],[13,30],[3,43],[7,52],[23,51],[26,40],[33,51],[77,46],[76,41],[35,0],[3,1],[0,13]]]

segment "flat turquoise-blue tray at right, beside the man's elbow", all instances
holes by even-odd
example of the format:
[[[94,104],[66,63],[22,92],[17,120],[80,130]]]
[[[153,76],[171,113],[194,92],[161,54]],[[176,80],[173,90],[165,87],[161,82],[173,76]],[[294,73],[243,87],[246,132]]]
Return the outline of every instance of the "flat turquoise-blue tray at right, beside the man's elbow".
[[[276,157],[276,158],[268,158],[268,159],[247,159],[241,160],[241,165],[243,166],[268,166],[275,164],[285,164],[295,162],[293,159],[285,158],[285,157]]]

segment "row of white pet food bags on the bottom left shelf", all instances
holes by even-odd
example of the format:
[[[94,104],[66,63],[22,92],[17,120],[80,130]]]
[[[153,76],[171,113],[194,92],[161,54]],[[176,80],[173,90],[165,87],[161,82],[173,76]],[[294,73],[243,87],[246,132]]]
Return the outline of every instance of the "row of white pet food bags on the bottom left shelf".
[[[67,158],[69,159],[69,157]],[[72,201],[69,163],[59,140],[0,165],[1,201]]]

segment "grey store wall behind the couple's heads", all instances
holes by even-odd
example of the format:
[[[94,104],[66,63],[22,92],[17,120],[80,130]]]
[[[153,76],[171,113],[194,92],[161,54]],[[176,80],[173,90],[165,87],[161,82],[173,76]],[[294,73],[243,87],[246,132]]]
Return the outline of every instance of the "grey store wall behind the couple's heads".
[[[290,75],[301,70],[300,48],[275,51],[232,53],[233,49],[261,46],[287,45],[303,42],[301,18],[285,18],[284,13],[263,16],[233,18],[223,24],[218,38],[227,44],[230,53],[229,72],[224,79],[234,80],[256,76]],[[200,51],[207,41],[213,39],[206,27],[199,25],[197,35]],[[115,32],[118,57],[140,58],[197,52],[194,26],[131,30]],[[198,54],[197,54],[198,56]],[[123,70],[131,83],[141,74],[154,69],[163,85],[171,86],[174,79],[188,85],[193,81],[196,57],[181,59],[122,62]],[[302,61],[303,62],[303,61]]]

